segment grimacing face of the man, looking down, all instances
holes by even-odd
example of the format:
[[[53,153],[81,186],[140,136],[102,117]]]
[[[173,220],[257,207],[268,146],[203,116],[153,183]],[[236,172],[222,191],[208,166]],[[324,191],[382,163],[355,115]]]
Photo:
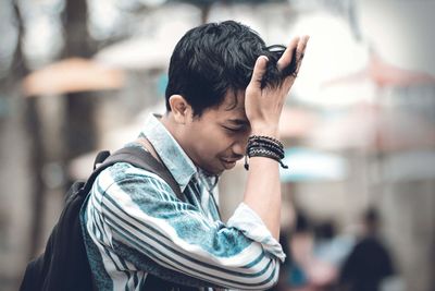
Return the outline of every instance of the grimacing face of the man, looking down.
[[[220,174],[244,157],[249,134],[245,93],[237,96],[227,93],[219,107],[207,109],[200,118],[186,122],[184,149],[199,168]]]

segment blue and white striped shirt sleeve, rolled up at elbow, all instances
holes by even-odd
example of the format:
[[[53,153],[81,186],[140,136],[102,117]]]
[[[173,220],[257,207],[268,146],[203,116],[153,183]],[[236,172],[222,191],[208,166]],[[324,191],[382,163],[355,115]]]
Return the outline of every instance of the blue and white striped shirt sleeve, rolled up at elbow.
[[[277,280],[285,255],[245,204],[227,225],[211,221],[160,177],[133,167],[122,177],[102,172],[91,193],[110,232],[108,246],[138,269],[163,267],[173,271],[169,280],[239,290],[269,289]]]

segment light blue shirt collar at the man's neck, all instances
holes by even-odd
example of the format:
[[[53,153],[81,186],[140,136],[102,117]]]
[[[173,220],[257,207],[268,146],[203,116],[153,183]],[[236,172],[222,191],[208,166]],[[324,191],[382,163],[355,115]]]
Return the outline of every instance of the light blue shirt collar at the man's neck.
[[[191,178],[198,173],[197,167],[175,141],[167,129],[160,122],[161,116],[150,114],[146,120],[141,135],[154,147],[157,154],[172,173],[184,192]]]

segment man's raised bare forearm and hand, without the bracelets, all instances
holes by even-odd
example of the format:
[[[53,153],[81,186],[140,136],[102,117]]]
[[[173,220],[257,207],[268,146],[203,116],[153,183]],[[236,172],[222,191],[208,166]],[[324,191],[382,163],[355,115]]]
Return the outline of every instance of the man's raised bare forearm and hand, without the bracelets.
[[[245,98],[246,116],[253,135],[278,137],[277,124],[283,105],[299,71],[308,38],[308,36],[294,38],[276,62],[276,68],[281,72],[286,70],[294,59],[297,63],[294,74],[285,77],[277,87],[263,87],[262,80],[269,59],[264,56],[257,59]],[[279,163],[274,159],[252,157],[244,198],[244,202],[259,215],[275,239],[279,237],[282,199],[278,167]]]

